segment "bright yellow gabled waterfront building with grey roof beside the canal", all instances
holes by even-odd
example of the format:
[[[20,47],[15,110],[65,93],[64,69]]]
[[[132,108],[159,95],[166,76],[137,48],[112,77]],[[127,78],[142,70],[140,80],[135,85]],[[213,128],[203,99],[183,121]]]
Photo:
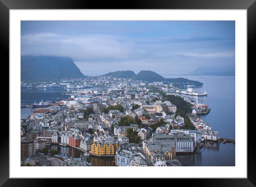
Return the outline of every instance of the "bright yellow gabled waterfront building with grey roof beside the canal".
[[[117,145],[114,140],[101,140],[93,142],[91,145],[90,155],[94,156],[114,156]]]

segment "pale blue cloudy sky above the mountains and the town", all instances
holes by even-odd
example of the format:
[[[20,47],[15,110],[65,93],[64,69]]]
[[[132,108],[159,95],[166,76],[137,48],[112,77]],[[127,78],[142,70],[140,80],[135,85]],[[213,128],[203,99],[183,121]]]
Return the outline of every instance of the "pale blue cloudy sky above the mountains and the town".
[[[235,66],[235,21],[21,21],[21,55],[71,57],[89,76]]]

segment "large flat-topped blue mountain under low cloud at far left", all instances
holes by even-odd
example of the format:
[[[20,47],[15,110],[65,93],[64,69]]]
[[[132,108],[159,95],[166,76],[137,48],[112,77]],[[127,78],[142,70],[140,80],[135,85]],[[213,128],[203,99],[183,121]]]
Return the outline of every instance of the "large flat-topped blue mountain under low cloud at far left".
[[[73,60],[55,56],[21,56],[22,81],[47,81],[84,78]]]

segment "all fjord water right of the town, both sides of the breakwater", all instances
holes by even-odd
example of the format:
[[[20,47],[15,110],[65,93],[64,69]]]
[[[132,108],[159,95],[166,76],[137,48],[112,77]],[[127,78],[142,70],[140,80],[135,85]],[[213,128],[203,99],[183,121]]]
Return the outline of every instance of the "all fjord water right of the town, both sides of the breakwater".
[[[166,78],[183,77],[204,83],[195,88],[208,93],[207,96],[193,96],[198,103],[207,104],[210,113],[201,115],[203,121],[212,126],[213,131],[220,131],[220,137],[235,140],[235,76],[191,76],[166,75]],[[186,88],[184,88],[186,89]],[[246,125],[246,124],[244,124]],[[235,144],[205,142],[203,152],[177,156],[182,166],[235,166]]]

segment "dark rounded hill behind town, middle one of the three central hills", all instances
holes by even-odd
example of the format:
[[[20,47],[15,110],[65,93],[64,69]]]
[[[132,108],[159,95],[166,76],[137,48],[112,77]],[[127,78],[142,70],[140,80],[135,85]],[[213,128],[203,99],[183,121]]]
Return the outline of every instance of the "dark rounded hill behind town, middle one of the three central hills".
[[[152,71],[140,71],[136,76],[132,77],[133,80],[144,80],[144,81],[164,81],[165,79]]]

